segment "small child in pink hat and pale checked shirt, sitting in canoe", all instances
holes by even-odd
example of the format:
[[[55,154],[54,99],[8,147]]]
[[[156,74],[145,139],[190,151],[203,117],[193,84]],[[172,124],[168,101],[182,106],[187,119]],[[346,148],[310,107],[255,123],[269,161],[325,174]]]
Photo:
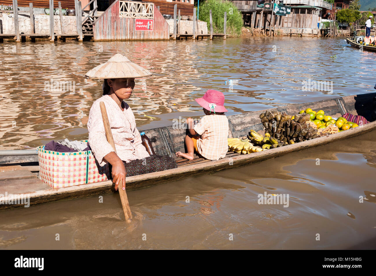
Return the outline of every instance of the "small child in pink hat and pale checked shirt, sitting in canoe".
[[[224,114],[224,95],[217,90],[208,90],[196,102],[203,107],[205,116],[193,127],[193,119],[188,118],[188,131],[185,136],[187,153],[176,152],[177,157],[193,159],[196,151],[209,160],[218,160],[226,156],[228,151],[227,137],[229,136],[229,121]]]

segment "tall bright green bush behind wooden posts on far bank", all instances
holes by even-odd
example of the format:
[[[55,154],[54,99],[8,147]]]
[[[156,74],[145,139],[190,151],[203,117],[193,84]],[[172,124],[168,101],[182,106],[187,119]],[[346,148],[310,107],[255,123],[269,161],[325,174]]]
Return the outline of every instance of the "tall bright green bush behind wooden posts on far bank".
[[[227,12],[226,33],[232,36],[241,34],[243,27],[243,17],[241,12],[230,1],[206,0],[199,6],[199,19],[208,23],[210,32],[210,16],[209,11],[212,10],[213,32],[223,33],[224,12]]]

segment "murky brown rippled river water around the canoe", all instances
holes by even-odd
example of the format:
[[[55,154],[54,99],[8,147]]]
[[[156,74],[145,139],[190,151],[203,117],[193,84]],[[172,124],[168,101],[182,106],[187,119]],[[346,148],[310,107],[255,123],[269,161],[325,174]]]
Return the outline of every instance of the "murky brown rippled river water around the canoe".
[[[83,75],[117,50],[154,73],[136,84],[128,102],[140,130],[202,116],[194,99],[209,88],[224,92],[228,114],[374,91],[376,53],[358,52],[343,38],[5,43],[2,149],[85,139],[89,108],[102,92]],[[44,91],[51,78],[75,81],[76,90]],[[309,78],[333,81],[333,94],[303,92]],[[239,79],[239,85],[226,86],[226,79]],[[0,212],[0,248],[374,249],[375,138],[373,131],[249,167],[129,191],[135,220],[128,226],[117,194],[105,195],[103,203],[91,197]],[[258,204],[264,192],[289,194],[289,206]]]

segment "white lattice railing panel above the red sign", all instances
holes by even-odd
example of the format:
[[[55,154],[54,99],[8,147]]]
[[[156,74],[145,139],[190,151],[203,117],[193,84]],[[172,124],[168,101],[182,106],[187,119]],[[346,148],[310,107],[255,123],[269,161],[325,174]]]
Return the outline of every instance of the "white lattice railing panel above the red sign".
[[[129,18],[154,18],[153,3],[142,3],[133,1],[119,1],[120,2],[120,17]]]

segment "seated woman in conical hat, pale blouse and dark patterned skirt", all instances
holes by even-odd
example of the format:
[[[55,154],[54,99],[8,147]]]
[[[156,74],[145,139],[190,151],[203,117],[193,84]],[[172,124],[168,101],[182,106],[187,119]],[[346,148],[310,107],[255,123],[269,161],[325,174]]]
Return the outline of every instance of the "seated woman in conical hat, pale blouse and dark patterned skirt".
[[[125,177],[177,168],[169,156],[152,155],[141,144],[135,116],[123,100],[129,99],[135,87],[135,78],[151,76],[149,70],[132,63],[116,53],[106,63],[89,70],[87,78],[104,79],[103,96],[90,108],[88,131],[89,145],[100,166],[112,165],[112,178],[117,190],[119,183],[125,189]],[[114,137],[115,148],[107,142],[99,103],[104,102]]]

